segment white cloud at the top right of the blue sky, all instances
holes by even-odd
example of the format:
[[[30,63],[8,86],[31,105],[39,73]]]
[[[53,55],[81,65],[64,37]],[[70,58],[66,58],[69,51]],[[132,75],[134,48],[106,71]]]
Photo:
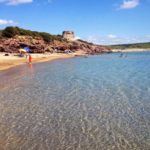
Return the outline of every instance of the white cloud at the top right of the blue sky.
[[[124,0],[119,9],[132,9],[139,5],[139,0]]]

